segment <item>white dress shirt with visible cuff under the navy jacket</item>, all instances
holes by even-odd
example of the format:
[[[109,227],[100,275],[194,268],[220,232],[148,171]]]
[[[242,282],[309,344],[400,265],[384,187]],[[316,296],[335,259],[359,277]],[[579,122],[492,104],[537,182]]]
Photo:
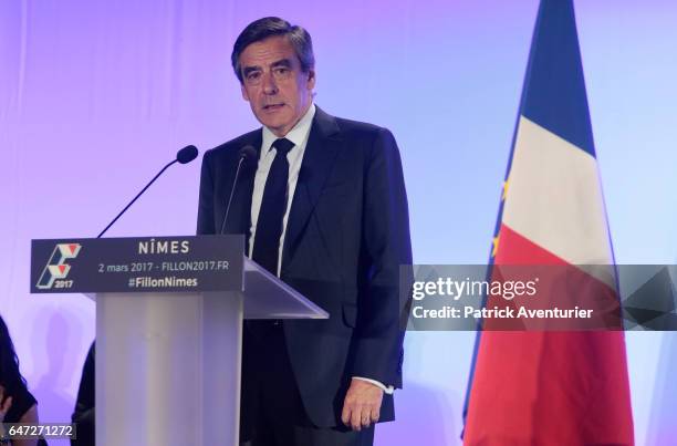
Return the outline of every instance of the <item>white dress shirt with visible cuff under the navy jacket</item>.
[[[292,200],[294,197],[294,190],[296,190],[296,183],[299,181],[299,172],[301,172],[301,163],[303,162],[303,154],[305,153],[305,146],[308,145],[308,137],[310,129],[313,124],[313,117],[315,116],[315,104],[311,104],[308,112],[301,117],[301,120],[289,131],[284,137],[292,143],[294,146],[287,154],[287,160],[289,163],[289,179],[287,185],[287,209],[284,210],[284,217],[282,217],[282,236],[280,237],[280,245],[278,247],[278,271],[277,276],[280,277],[282,270],[282,247],[284,246],[284,236],[287,235],[287,220],[289,218],[289,210],[291,209]],[[253,253],[253,243],[257,235],[257,222],[259,220],[259,211],[261,210],[261,203],[263,201],[263,190],[265,189],[265,180],[268,179],[268,173],[272,166],[273,159],[278,154],[277,148],[272,146],[275,139],[279,139],[274,133],[267,126],[263,126],[263,138],[261,143],[261,151],[259,152],[259,165],[257,167],[257,174],[254,176],[254,188],[251,197],[251,227],[249,237],[249,258]],[[369,380],[362,376],[353,376],[353,380],[362,380],[369,382],[381,387],[385,393],[392,394],[394,387],[386,386],[383,383]]]

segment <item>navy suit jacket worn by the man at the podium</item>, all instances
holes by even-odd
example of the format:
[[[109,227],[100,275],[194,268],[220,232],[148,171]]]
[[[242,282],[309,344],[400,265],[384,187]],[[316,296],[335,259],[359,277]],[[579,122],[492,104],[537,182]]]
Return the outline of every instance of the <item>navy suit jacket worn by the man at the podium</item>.
[[[261,129],[208,151],[202,159],[198,234],[217,234],[239,149],[260,151]],[[241,173],[227,234],[250,227],[256,163]],[[249,237],[249,235],[247,236]],[[407,198],[397,144],[386,128],[313,118],[282,252],[281,279],[330,314],[285,321],[289,355],[316,426],[340,423],[351,376],[402,387],[399,265],[412,263]],[[246,378],[246,376],[244,376]],[[394,419],[384,395],[381,421]]]

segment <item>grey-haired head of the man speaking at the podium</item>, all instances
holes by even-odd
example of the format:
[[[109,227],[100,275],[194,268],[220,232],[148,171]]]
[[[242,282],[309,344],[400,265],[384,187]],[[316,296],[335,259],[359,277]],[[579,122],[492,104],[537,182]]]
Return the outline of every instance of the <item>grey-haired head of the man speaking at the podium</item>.
[[[308,31],[277,17],[259,19],[236,40],[231,62],[257,120],[284,136],[308,111],[315,86]]]

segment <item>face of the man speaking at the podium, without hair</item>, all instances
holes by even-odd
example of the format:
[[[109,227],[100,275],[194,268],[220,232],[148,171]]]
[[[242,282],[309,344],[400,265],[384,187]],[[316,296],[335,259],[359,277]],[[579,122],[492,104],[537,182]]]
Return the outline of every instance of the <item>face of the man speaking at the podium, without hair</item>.
[[[282,137],[311,104],[315,73],[301,70],[292,44],[283,35],[251,43],[240,54],[242,97],[257,120]]]

